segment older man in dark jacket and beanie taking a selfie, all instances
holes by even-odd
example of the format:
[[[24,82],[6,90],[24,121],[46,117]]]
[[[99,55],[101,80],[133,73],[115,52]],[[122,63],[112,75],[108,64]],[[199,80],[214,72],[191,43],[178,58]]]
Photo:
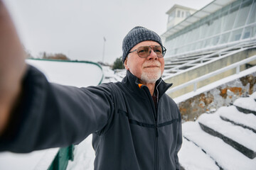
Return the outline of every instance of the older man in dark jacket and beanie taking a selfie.
[[[0,151],[64,147],[92,133],[95,169],[179,169],[181,115],[165,94],[159,35],[137,26],[124,37],[122,82],[62,86],[25,64],[1,1],[0,9]]]

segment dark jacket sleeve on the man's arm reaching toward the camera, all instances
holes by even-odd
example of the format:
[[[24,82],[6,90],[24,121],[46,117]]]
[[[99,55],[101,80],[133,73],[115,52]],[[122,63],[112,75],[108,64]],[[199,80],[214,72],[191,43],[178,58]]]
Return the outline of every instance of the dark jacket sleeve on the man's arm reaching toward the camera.
[[[78,144],[102,130],[113,113],[107,84],[76,88],[49,83],[29,66],[20,103],[0,137],[0,151],[31,152]]]

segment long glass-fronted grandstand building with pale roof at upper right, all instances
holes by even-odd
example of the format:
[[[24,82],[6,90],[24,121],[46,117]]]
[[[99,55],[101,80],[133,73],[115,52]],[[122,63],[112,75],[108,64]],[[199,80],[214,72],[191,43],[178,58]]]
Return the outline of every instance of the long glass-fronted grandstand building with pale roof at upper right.
[[[169,27],[161,38],[167,49],[166,59],[256,40],[256,0],[212,1]]]

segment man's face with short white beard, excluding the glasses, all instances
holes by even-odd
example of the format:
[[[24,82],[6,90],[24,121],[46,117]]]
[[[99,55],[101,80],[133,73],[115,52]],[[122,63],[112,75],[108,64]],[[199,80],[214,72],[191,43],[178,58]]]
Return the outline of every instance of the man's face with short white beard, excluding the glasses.
[[[130,51],[137,50],[138,47],[144,45],[159,45],[159,43],[151,40],[139,42],[139,44],[135,45]],[[137,54],[137,51],[135,51],[129,53],[124,62],[124,67],[134,74],[134,76],[139,79],[140,83],[155,83],[164,72],[164,57],[157,57],[156,53],[151,50],[148,57],[141,58]]]

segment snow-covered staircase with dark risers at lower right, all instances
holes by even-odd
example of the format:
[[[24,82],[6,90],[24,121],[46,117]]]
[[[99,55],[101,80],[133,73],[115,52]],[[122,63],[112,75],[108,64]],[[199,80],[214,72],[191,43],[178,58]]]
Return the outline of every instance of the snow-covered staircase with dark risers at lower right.
[[[183,123],[181,169],[256,169],[256,92]]]

